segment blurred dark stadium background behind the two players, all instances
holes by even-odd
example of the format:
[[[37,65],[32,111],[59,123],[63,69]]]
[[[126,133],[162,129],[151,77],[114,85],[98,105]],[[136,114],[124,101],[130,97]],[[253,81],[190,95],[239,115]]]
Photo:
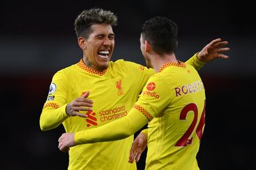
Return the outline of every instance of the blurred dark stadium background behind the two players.
[[[83,9],[102,7],[119,18],[112,60],[145,64],[141,25],[167,16],[179,26],[177,57],[187,60],[211,40],[229,41],[228,60],[200,70],[206,88],[202,170],[256,169],[256,12],[246,1],[1,1],[1,169],[67,169],[58,150],[62,126],[43,132],[41,108],[57,70],[79,61],[73,22]],[[145,166],[145,154],[138,169]]]

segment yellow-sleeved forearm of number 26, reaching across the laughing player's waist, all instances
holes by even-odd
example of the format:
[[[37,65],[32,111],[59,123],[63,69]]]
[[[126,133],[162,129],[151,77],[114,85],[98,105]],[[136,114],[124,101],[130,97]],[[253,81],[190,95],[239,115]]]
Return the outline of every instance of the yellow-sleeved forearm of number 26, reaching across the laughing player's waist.
[[[75,144],[122,140],[141,129],[147,122],[147,117],[139,112],[139,110],[133,108],[128,115],[122,119],[98,128],[75,133]]]

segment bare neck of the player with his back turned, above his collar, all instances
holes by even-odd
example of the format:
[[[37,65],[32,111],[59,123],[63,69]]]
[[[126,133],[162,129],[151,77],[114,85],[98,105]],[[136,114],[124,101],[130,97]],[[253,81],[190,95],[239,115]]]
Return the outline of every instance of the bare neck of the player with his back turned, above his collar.
[[[158,72],[160,68],[167,62],[178,62],[175,54],[164,54],[161,56],[156,55],[151,57],[151,65],[156,72]]]

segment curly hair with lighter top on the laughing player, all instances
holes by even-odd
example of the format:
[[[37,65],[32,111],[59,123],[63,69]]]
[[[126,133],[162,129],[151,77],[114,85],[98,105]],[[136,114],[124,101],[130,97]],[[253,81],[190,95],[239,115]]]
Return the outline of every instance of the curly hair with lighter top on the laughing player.
[[[84,10],[75,19],[75,33],[78,37],[87,39],[92,33],[92,24],[110,24],[117,25],[117,16],[113,12],[101,8],[92,8]]]

